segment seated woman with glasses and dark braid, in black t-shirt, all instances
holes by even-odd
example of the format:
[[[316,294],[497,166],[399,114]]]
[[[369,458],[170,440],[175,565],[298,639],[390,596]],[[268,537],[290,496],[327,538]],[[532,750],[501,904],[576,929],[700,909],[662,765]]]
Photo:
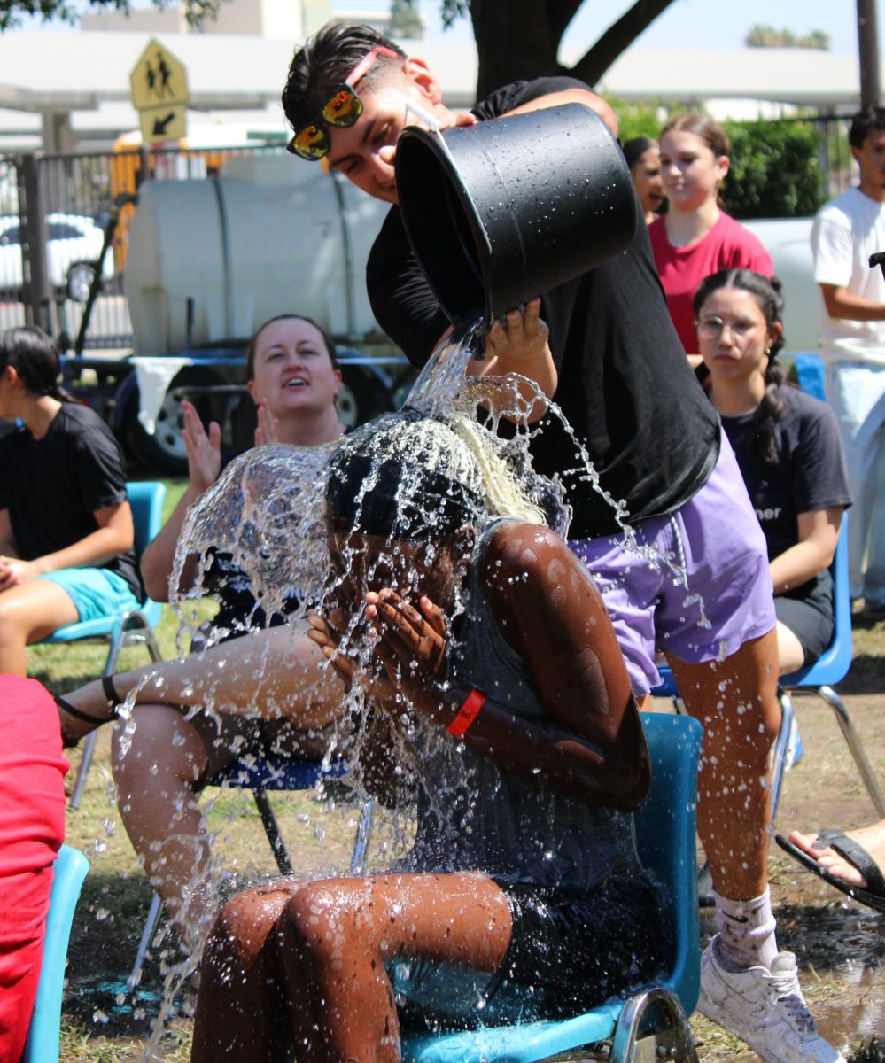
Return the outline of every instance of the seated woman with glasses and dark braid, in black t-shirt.
[[[833,636],[830,563],[851,505],[830,407],[785,384],[780,283],[720,270],[695,296],[709,398],[722,418],[768,544],[780,672],[811,664]]]

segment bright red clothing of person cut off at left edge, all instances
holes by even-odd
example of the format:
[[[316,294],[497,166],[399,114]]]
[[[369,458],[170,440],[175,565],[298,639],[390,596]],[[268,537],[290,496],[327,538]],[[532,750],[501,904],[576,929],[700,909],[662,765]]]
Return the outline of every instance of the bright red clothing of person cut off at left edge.
[[[0,1063],[19,1063],[43,960],[68,762],[59,710],[35,679],[0,675]]]

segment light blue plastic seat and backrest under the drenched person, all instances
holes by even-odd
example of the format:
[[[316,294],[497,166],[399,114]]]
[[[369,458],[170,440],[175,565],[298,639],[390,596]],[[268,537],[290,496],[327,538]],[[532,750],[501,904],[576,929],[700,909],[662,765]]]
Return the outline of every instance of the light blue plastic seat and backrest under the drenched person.
[[[702,728],[690,716],[644,712],[652,761],[649,799],[635,813],[644,864],[664,887],[672,963],[659,984],[679,996],[686,1015],[698,1002],[700,941],[695,848],[698,757]],[[419,1034],[403,1040],[404,1063],[533,1063],[610,1037],[623,1006],[612,1000],[563,1022]]]

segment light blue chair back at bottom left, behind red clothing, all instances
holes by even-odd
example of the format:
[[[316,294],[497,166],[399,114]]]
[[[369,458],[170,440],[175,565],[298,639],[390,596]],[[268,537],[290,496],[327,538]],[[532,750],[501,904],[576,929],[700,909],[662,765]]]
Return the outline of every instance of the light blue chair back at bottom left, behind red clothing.
[[[40,980],[21,1063],[55,1063],[59,1059],[68,941],[80,889],[88,870],[89,861],[82,853],[69,845],[61,847],[52,867]]]

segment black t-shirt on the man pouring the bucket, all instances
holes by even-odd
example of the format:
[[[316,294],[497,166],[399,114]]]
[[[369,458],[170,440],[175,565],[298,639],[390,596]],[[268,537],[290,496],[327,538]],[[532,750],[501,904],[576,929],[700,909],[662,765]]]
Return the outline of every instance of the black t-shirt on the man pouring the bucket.
[[[569,88],[570,78],[517,82],[477,104],[480,119]],[[641,217],[641,214],[640,214]],[[391,207],[367,265],[372,310],[408,359],[422,366],[450,322],[412,254]],[[648,232],[568,284],[541,293],[541,316],[560,373],[555,401],[583,442],[601,487],[627,503],[635,524],[687,502],[719,453],[719,419],[691,372],[654,268]],[[614,510],[587,483],[573,440],[547,417],[532,441],[535,468],[558,474],[573,508],[570,536],[610,535]]]

